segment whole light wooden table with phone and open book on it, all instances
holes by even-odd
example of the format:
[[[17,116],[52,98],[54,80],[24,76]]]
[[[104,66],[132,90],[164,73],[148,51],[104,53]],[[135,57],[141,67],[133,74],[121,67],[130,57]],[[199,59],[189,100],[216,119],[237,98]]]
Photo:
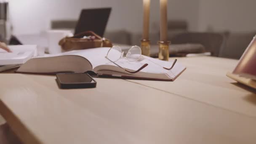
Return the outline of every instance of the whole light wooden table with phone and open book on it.
[[[179,58],[174,81],[0,74],[0,113],[27,144],[255,144],[256,92],[226,77],[237,61]]]

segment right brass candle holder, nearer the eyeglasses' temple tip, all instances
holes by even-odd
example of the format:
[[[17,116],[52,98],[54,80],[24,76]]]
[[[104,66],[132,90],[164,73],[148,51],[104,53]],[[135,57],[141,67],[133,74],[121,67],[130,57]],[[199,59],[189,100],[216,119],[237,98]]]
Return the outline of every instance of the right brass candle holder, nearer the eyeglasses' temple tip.
[[[158,59],[163,61],[169,60],[169,45],[171,44],[170,41],[164,42],[164,41],[158,41],[159,44],[159,53],[158,53]]]

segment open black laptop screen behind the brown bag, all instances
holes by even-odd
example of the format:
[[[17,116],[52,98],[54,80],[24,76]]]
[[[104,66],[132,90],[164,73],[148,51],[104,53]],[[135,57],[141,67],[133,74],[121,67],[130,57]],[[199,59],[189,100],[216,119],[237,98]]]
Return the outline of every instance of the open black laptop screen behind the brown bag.
[[[75,27],[75,35],[93,31],[103,37],[112,8],[83,9]]]

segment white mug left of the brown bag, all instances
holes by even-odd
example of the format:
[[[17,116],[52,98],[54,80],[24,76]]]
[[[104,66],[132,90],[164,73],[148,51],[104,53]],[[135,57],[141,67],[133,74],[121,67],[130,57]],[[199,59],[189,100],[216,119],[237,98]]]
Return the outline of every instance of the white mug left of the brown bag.
[[[72,36],[72,32],[70,30],[48,30],[48,52],[51,54],[61,53],[59,41],[66,36]]]

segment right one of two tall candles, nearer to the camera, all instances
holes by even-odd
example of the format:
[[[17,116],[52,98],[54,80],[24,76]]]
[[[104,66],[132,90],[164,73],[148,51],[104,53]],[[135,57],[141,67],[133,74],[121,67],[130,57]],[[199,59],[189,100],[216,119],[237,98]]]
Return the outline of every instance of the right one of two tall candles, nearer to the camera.
[[[167,0],[160,0],[160,41],[167,41]]]

